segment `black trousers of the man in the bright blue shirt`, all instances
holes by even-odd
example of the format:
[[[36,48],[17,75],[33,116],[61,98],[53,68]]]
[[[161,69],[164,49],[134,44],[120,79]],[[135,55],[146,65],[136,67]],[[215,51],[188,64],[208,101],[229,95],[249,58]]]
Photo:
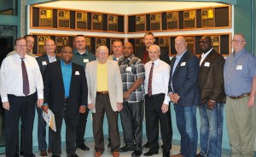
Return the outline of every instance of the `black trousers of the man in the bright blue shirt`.
[[[49,129],[51,134],[51,141],[52,141],[52,154],[61,154],[61,126],[63,118],[66,124],[66,152],[67,155],[75,154],[76,151],[76,128],[79,122],[79,112],[71,113],[70,109],[71,105],[68,103],[65,104],[65,108],[62,112],[55,112],[55,126],[56,132]]]

